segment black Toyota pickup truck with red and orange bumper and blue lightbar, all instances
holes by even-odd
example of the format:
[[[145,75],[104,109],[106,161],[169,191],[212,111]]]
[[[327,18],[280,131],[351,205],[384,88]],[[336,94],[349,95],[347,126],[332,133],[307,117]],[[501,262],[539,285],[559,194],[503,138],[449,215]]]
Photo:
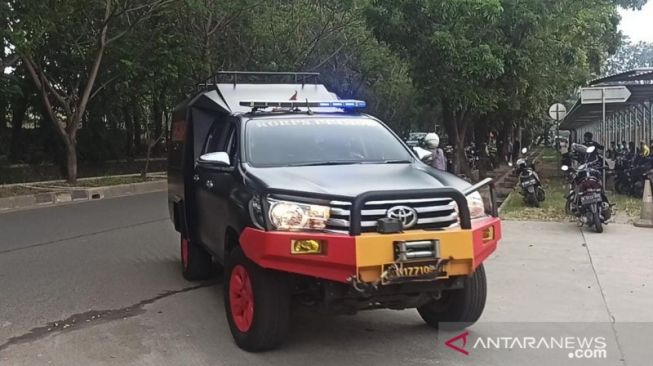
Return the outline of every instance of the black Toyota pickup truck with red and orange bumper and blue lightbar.
[[[224,269],[237,345],[278,346],[295,302],[345,314],[416,308],[434,327],[478,320],[482,262],[501,238],[493,199],[485,207],[478,192],[491,181],[425,165],[359,112],[365,102],[307,83],[314,74],[238,82],[252,74],[260,79],[220,73],[179,105],[169,146],[183,275]]]

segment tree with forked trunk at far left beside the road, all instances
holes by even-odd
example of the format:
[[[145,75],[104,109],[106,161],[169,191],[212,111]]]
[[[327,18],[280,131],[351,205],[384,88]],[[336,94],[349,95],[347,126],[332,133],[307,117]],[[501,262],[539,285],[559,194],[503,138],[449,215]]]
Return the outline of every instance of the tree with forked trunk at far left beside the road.
[[[65,145],[70,183],[77,179],[77,131],[89,101],[106,86],[96,86],[105,52],[168,2],[72,0],[56,7],[41,1],[12,4],[22,21],[10,24],[10,40]]]

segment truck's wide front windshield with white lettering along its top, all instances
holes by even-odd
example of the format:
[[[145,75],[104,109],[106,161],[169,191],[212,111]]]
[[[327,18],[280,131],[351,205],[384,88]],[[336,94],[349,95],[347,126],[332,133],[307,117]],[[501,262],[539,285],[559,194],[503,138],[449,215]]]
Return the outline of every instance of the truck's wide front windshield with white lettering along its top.
[[[409,163],[411,154],[369,118],[253,119],[246,127],[253,166]]]

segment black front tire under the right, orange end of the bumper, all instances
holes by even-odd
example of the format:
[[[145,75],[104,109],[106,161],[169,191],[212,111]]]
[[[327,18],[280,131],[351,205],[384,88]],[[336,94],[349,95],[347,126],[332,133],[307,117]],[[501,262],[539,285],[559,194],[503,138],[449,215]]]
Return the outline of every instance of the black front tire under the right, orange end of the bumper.
[[[487,299],[485,268],[479,265],[474,274],[465,279],[464,287],[442,293],[438,300],[432,300],[417,308],[424,321],[434,327],[464,329],[474,324],[483,313]]]

